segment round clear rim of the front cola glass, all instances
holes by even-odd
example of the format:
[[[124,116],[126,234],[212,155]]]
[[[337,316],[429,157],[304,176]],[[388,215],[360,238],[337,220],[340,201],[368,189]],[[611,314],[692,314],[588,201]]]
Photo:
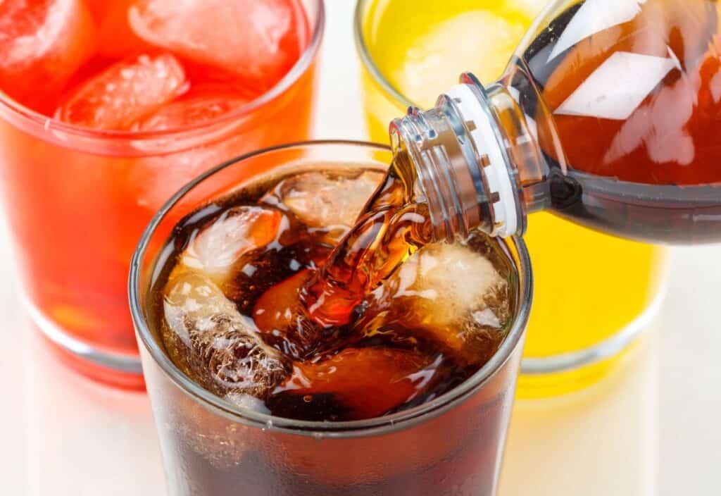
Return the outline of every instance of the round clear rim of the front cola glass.
[[[470,378],[466,379],[466,381],[464,381],[461,385],[456,386],[456,388],[451,389],[451,391],[446,392],[446,394],[443,394],[430,402],[426,402],[417,407],[397,412],[392,415],[376,417],[368,420],[352,420],[344,422],[293,420],[238,407],[230,402],[227,402],[221,397],[216,396],[210,391],[203,389],[201,386],[198,386],[198,384],[195,384],[195,382],[187,377],[185,373],[182,373],[180,368],[175,366],[172,360],[168,357],[167,353],[162,350],[161,345],[159,345],[153,337],[149,324],[143,316],[143,304],[141,303],[143,288],[141,288],[140,282],[141,272],[143,271],[142,260],[146,257],[146,250],[149,247],[149,241],[156,228],[160,225],[160,223],[162,223],[167,213],[169,213],[169,211],[171,211],[172,208],[177,205],[180,200],[182,200],[182,198],[185,198],[187,193],[191,192],[205,180],[213,177],[213,175],[223,171],[227,167],[232,167],[248,159],[252,159],[263,154],[269,154],[274,151],[317,149],[319,147],[334,146],[357,146],[374,149],[376,151],[390,151],[389,146],[366,141],[317,140],[286,143],[237,156],[234,159],[225,161],[217,167],[213,167],[213,169],[200,174],[175,193],[175,195],[173,195],[172,198],[170,198],[153,217],[151,223],[149,223],[149,226],[147,226],[146,230],[143,232],[143,236],[141,236],[141,239],[138,242],[136,252],[133,254],[133,259],[131,260],[131,271],[128,280],[128,298],[131,306],[133,323],[136,328],[136,337],[138,337],[138,345],[145,347],[154,362],[162,368],[164,374],[176,386],[182,389],[185,394],[188,394],[196,401],[205,404],[206,407],[213,408],[213,410],[219,415],[223,415],[234,422],[267,430],[317,437],[322,436],[323,438],[363,437],[409,428],[412,425],[425,422],[432,417],[441,415],[441,413],[446,412],[448,409],[456,407],[466,401],[466,399],[472,397],[475,392],[479,391],[479,389],[482,389],[487,381],[490,381],[495,373],[499,371],[511,357],[513,350],[515,350],[516,346],[519,342],[521,342],[523,332],[526,330],[533,295],[533,274],[531,272],[531,260],[528,256],[526,244],[523,242],[523,239],[514,236],[513,238],[505,239],[505,242],[513,244],[518,252],[518,264],[514,263],[514,265],[517,265],[516,269],[518,270],[519,275],[522,275],[522,277],[518,278],[518,311],[516,319],[514,319],[513,326],[493,357],[485,363],[479,371],[474,373],[474,375]],[[278,164],[279,167],[282,165],[283,164]],[[156,268],[157,263],[156,257],[153,258],[154,262],[150,269],[151,272]]]

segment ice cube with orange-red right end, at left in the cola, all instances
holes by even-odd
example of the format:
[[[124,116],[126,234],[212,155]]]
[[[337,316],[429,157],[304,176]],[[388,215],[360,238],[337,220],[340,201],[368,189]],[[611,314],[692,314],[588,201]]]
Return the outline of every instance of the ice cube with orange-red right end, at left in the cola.
[[[264,247],[278,236],[282,222],[283,214],[270,208],[230,208],[195,236],[182,254],[182,263],[223,285],[245,253]]]

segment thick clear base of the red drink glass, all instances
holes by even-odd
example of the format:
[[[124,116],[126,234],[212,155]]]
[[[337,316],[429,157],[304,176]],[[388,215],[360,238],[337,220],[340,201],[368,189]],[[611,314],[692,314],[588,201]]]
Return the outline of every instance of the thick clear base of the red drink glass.
[[[48,319],[27,298],[25,310],[35,327],[50,342],[58,358],[76,372],[110,386],[123,389],[144,389],[143,369],[136,354],[115,353],[94,347],[68,335]]]

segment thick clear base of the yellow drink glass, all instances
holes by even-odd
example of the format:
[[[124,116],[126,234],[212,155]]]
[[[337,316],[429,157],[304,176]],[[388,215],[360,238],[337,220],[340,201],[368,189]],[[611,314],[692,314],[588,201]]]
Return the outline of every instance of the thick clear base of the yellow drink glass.
[[[579,391],[600,381],[651,327],[664,297],[665,289],[662,289],[637,319],[597,345],[544,358],[523,358],[516,397],[554,397]]]

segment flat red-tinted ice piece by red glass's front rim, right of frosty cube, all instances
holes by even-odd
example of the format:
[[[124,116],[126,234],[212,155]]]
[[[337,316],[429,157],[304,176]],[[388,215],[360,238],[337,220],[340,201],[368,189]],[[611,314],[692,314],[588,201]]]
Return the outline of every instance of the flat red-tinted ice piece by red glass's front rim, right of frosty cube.
[[[249,102],[237,92],[221,87],[195,87],[180,99],[138,123],[143,131],[185,128],[222,117]]]

